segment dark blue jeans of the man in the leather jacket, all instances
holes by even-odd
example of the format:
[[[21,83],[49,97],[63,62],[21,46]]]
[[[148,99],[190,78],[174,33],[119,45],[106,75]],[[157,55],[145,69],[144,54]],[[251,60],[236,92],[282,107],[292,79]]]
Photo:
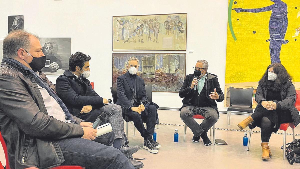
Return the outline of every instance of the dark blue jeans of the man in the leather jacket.
[[[110,138],[101,138],[110,143]],[[96,140],[99,141],[99,140]],[[131,168],[128,158],[118,149],[83,138],[69,138],[58,140],[64,155],[61,165],[79,165],[86,169],[98,168]]]

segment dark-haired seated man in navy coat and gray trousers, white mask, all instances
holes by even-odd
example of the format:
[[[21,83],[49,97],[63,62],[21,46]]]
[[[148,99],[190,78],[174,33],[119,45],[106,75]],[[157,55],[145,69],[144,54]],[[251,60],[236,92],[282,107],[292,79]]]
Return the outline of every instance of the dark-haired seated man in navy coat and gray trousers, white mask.
[[[131,155],[137,152],[140,146],[128,147],[121,107],[116,104],[107,104],[107,99],[100,97],[91,87],[88,80],[89,60],[91,57],[82,52],[71,55],[70,70],[65,70],[64,74],[56,79],[57,95],[70,113],[82,120],[95,122],[101,112],[106,113],[107,118],[101,124],[110,122],[112,125],[115,133],[113,147],[120,149],[133,162],[134,167],[141,167],[142,162],[131,159]]]

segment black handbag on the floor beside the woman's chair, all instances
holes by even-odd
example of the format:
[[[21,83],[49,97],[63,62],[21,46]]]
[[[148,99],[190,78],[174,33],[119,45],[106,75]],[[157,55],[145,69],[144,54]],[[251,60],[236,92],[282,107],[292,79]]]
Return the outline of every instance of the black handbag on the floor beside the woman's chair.
[[[283,146],[281,146],[281,149],[283,150]],[[300,163],[300,156],[296,155],[292,149],[300,149],[300,139],[295,139],[291,143],[287,143],[285,151],[285,155],[289,161],[289,164],[293,165],[294,162]]]

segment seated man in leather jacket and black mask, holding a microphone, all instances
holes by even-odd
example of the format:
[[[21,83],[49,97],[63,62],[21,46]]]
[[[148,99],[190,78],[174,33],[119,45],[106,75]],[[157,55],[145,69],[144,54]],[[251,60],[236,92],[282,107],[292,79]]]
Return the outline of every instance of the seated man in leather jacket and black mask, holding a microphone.
[[[36,74],[45,62],[37,35],[15,30],[3,40],[0,130],[10,168],[80,165],[133,169],[120,150],[91,141],[97,130],[71,115]]]

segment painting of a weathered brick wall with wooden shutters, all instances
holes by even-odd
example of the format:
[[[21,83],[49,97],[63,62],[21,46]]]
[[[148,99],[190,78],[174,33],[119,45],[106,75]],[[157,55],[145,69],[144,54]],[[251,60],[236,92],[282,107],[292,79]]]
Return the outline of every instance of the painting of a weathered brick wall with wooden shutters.
[[[179,92],[185,77],[186,53],[113,53],[113,87],[127,72],[130,57],[139,60],[137,75],[146,85],[152,85],[153,92]]]

